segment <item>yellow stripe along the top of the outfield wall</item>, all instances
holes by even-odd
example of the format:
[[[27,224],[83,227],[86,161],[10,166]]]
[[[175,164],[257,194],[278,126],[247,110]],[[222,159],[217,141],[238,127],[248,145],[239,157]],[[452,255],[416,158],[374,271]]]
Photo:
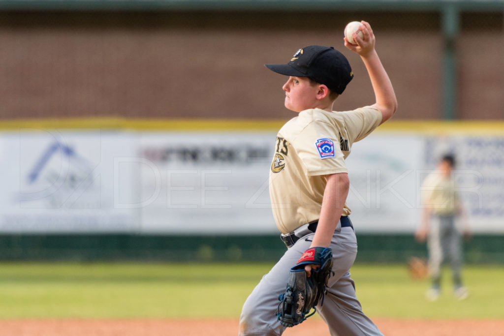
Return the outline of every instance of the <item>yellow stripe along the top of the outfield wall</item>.
[[[277,131],[287,120],[257,119],[133,119],[57,118],[0,120],[3,131],[42,131],[48,129],[102,129],[139,131]],[[419,121],[391,120],[378,132],[422,134],[504,135],[504,121]]]

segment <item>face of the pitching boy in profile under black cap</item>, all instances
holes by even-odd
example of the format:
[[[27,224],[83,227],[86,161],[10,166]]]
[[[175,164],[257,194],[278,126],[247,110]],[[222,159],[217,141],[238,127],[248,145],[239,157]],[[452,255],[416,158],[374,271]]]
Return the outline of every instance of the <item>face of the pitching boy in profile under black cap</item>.
[[[285,107],[301,112],[317,105],[317,86],[311,86],[306,77],[289,77],[282,89],[285,91]]]

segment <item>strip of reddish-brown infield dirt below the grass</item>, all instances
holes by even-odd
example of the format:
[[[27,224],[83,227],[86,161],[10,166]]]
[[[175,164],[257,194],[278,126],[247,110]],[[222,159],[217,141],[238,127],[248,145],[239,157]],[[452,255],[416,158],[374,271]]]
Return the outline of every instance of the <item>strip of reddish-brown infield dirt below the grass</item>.
[[[416,320],[374,318],[388,336],[504,336],[504,320]],[[8,336],[226,336],[236,335],[235,319],[19,319],[1,320]],[[320,319],[306,320],[285,331],[286,336],[328,336]]]

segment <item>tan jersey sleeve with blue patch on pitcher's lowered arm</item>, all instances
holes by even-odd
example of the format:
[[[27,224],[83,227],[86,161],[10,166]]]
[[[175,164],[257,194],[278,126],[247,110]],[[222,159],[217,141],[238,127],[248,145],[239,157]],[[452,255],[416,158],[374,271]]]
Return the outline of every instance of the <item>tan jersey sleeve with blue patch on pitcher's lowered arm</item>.
[[[340,149],[338,129],[328,122],[310,122],[292,145],[308,176],[348,172]]]

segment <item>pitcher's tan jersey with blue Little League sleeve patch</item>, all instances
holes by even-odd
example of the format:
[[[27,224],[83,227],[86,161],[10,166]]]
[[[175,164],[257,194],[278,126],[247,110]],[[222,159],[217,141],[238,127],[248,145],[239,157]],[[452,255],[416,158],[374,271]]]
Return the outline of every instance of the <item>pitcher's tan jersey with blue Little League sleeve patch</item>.
[[[280,232],[319,219],[325,175],[346,173],[352,144],[381,121],[382,113],[371,107],[345,112],[309,109],[280,129],[270,171],[270,198]],[[345,204],[342,215],[350,212]]]

